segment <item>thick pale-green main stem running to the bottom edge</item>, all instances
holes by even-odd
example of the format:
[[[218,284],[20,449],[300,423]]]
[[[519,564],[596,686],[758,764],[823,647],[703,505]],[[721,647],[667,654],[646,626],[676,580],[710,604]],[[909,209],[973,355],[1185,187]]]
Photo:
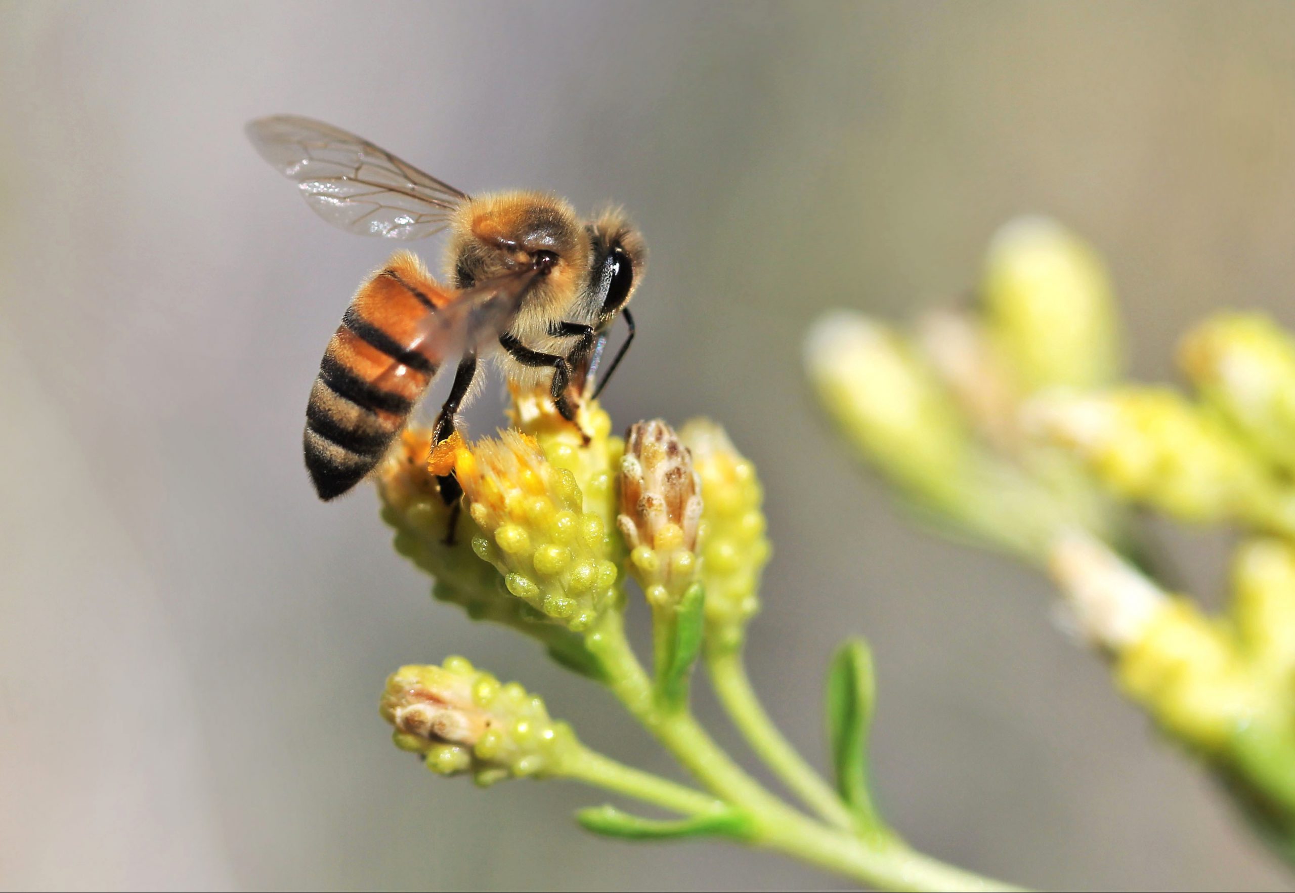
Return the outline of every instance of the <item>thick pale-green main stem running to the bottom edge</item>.
[[[914,853],[899,840],[865,841],[802,815],[742,771],[692,713],[658,709],[618,612],[607,612],[587,643],[602,658],[611,691],[644,727],[715,796],[751,817],[754,846],[890,890],[1019,889]]]

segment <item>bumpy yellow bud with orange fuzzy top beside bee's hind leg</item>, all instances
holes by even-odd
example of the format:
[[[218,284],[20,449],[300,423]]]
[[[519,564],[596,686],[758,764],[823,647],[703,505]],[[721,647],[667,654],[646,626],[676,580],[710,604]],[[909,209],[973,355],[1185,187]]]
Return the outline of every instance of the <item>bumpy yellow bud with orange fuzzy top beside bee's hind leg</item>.
[[[531,437],[505,430],[455,458],[473,551],[545,617],[587,630],[614,605],[616,565],[603,520],[584,511],[575,474],[552,465]]]

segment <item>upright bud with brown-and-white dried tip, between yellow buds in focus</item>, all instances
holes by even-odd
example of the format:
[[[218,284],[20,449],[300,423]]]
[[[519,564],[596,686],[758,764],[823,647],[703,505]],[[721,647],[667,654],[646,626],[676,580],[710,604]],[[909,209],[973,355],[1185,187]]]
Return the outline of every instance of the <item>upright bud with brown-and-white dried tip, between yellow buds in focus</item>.
[[[616,525],[654,607],[677,601],[693,582],[701,520],[701,478],[688,447],[664,421],[632,425],[620,459]]]

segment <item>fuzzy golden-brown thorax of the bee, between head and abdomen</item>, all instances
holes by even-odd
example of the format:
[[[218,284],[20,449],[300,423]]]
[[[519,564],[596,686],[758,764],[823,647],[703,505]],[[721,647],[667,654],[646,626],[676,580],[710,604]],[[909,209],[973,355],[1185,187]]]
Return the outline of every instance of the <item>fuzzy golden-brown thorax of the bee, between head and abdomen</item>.
[[[588,275],[589,236],[575,210],[554,196],[505,192],[465,202],[453,222],[451,276],[457,288],[519,270],[554,303],[576,294]]]

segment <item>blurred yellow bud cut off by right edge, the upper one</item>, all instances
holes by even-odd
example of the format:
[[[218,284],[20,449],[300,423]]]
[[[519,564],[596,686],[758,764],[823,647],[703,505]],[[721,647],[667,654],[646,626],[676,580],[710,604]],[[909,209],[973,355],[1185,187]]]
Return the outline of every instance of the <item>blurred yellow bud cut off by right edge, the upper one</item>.
[[[1295,340],[1261,314],[1219,314],[1188,333],[1178,364],[1256,452],[1295,473]]]

